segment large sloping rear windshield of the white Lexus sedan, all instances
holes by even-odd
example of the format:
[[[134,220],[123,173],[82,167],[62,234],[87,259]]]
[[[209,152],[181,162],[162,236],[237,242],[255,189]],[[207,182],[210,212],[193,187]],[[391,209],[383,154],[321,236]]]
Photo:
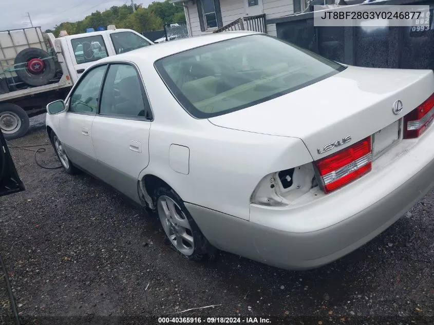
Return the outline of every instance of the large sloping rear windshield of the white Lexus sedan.
[[[155,67],[175,98],[196,118],[253,106],[345,69],[268,35],[201,46],[160,59]]]

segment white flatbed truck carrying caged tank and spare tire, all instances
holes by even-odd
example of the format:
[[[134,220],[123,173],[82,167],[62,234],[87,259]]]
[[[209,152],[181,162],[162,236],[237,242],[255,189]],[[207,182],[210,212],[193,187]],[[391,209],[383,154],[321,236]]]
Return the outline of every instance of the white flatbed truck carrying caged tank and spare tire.
[[[0,31],[0,129],[7,140],[20,138],[29,117],[65,99],[80,74],[109,55],[153,45],[130,29],[116,29],[55,38],[40,27]]]

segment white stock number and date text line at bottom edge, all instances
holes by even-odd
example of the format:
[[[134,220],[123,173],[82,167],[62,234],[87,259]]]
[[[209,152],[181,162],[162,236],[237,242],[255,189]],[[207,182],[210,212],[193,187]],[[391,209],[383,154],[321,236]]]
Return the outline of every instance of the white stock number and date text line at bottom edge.
[[[204,324],[228,324],[228,323],[246,323],[255,324],[271,323],[270,318],[265,317],[158,317],[159,324],[187,324],[187,323],[204,323]]]

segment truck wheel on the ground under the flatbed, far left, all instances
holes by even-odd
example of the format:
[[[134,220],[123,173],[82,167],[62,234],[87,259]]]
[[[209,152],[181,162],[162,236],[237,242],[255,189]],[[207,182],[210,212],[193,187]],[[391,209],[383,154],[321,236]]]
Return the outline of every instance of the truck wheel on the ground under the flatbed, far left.
[[[6,140],[23,137],[29,129],[29,117],[20,106],[0,104],[0,129]]]

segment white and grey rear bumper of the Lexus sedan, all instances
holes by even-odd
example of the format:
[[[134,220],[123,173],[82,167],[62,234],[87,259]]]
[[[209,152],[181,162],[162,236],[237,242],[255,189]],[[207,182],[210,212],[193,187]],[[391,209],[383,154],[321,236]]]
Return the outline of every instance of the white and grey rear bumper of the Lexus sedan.
[[[406,140],[408,141],[408,140]],[[362,246],[434,186],[434,128],[395,147],[360,180],[298,207],[251,205],[250,221],[186,203],[216,247],[283,269],[311,269]],[[411,146],[411,148],[409,147]],[[395,157],[393,157],[395,155]]]

